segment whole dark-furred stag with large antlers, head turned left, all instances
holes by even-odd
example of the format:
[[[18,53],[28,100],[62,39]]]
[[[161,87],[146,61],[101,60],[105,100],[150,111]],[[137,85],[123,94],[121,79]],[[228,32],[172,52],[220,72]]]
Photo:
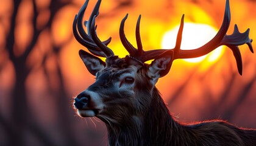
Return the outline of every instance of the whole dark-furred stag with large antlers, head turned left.
[[[80,58],[88,71],[96,76],[96,82],[74,98],[74,108],[81,117],[98,117],[108,132],[108,145],[256,145],[256,131],[237,128],[222,120],[212,120],[185,125],[169,114],[160,93],[155,88],[158,78],[168,74],[172,61],[208,54],[216,47],[226,45],[235,56],[238,72],[242,74],[242,60],[238,46],[247,44],[251,52],[249,29],[240,33],[238,27],[232,35],[226,35],[230,24],[229,1],[226,1],[224,19],[216,36],[204,46],[193,50],[180,50],[183,16],[174,49],[143,50],[140,38],[140,16],[136,27],[138,49],[124,35],[121,21],[119,35],[129,52],[124,58],[114,55],[107,47],[111,38],[99,40],[95,18],[99,5],[88,21],[82,22],[88,1],[74,18],[73,32],[76,40],[91,52],[79,50]],[[87,27],[87,32],[83,29]],[[105,57],[102,61],[98,57]],[[154,60],[151,64],[145,61]]]

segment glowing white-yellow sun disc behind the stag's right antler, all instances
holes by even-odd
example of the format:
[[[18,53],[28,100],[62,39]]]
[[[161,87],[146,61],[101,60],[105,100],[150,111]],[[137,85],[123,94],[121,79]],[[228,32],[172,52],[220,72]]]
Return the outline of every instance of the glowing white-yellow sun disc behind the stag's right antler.
[[[169,30],[163,35],[162,48],[171,49],[175,47],[176,37],[179,30],[179,26],[174,27],[174,29]],[[216,35],[217,30],[207,24],[198,23],[184,23],[183,33],[182,33],[182,43],[180,48],[183,50],[196,49],[197,47],[203,46],[208,41]],[[208,62],[213,62],[218,60],[223,54],[224,50],[222,46],[213,50],[210,54],[204,55],[202,57],[183,59],[190,63],[201,62],[202,60],[207,60]]]

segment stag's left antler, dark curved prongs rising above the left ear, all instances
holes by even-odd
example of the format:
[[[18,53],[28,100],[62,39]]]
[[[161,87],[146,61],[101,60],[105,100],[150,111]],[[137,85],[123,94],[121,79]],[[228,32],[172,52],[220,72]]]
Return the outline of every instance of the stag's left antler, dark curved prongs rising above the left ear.
[[[114,56],[113,51],[107,47],[111,41],[111,37],[106,41],[99,40],[96,27],[95,18],[99,15],[99,5],[101,5],[101,0],[99,0],[91,13],[91,16],[88,21],[85,21],[84,25],[87,27],[87,33],[83,28],[82,19],[84,18],[84,13],[87,8],[89,1],[85,1],[85,4],[79,10],[78,15],[75,16],[73,22],[73,33],[76,40],[87,47],[87,49],[94,55],[99,57],[110,57]]]

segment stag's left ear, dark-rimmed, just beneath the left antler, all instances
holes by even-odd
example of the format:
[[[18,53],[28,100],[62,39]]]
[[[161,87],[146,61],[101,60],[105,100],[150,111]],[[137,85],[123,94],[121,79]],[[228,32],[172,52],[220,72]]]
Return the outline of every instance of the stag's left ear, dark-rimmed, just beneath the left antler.
[[[88,71],[92,75],[96,75],[98,71],[105,68],[105,62],[94,55],[85,52],[84,50],[79,50],[79,56],[84,61],[84,64]]]

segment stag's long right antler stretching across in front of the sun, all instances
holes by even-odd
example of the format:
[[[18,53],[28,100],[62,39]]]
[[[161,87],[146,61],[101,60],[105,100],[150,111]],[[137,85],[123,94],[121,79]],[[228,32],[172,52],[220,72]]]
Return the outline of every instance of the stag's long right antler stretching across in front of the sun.
[[[212,40],[204,44],[204,46],[199,47],[197,49],[192,49],[192,50],[180,50],[180,44],[182,41],[182,31],[183,31],[183,25],[184,25],[184,15],[182,16],[179,32],[177,34],[176,46],[174,47],[174,49],[168,49],[168,50],[157,49],[157,50],[144,51],[142,49],[141,40],[140,40],[140,27],[139,27],[140,17],[138,18],[137,27],[136,27],[136,38],[137,38],[138,49],[133,47],[132,44],[129,43],[126,36],[124,35],[124,22],[126,21],[126,19],[127,19],[127,15],[124,17],[123,21],[121,22],[121,26],[119,30],[121,41],[124,47],[129,52],[130,56],[137,58],[142,62],[152,60],[158,57],[158,55],[163,54],[163,52],[166,52],[166,51],[174,52],[174,60],[179,58],[201,57],[205,54],[208,54],[209,52],[212,52],[212,50],[216,49],[217,47],[225,45],[232,50],[233,55],[235,56],[235,59],[236,59],[238,72],[242,74],[243,64],[242,64],[241,54],[238,46],[242,44],[247,44],[251,52],[254,53],[254,50],[252,49],[252,44],[251,44],[252,40],[249,38],[249,29],[247,29],[246,32],[244,33],[240,33],[238,30],[238,27],[235,25],[232,35],[226,34],[230,24],[229,0],[226,1],[224,19],[222,21],[222,25],[218,33],[215,35],[215,37]]]

